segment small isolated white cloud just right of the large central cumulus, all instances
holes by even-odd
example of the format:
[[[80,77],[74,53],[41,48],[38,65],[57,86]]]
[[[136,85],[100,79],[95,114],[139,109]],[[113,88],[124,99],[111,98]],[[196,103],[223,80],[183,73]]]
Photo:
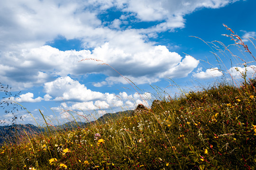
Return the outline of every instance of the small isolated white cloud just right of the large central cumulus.
[[[219,71],[218,68],[209,68],[205,72],[201,71],[201,68],[199,68],[197,73],[193,73],[193,77],[199,79],[209,79],[213,77],[219,77],[222,75],[223,73]]]

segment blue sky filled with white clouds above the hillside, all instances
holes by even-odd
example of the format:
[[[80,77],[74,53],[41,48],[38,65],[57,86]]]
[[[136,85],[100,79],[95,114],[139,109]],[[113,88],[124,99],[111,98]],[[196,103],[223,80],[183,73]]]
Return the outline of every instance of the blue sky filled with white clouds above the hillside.
[[[255,53],[255,7],[255,0],[1,0],[0,83],[12,95],[0,92],[0,123],[16,116],[18,124],[43,125],[39,110],[56,125],[150,107],[239,81],[245,62],[254,77],[255,59],[223,24]]]

